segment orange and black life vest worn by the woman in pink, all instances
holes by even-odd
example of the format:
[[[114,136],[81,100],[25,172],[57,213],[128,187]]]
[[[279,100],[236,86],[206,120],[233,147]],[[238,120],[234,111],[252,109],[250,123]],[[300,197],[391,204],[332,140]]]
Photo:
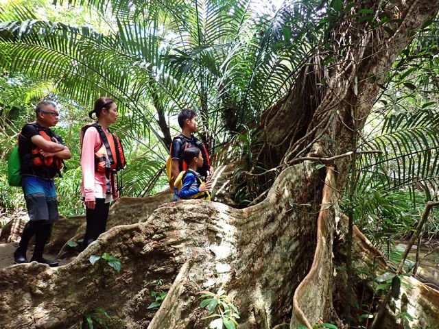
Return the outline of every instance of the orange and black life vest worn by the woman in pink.
[[[114,188],[115,175],[117,171],[125,169],[126,160],[123,154],[123,147],[120,139],[111,134],[112,138],[108,139],[104,130],[99,123],[90,123],[81,128],[80,145],[82,151],[82,142],[84,141],[84,135],[89,127],[95,127],[99,136],[101,137],[102,146],[95,152],[95,170],[105,173],[106,180],[106,194],[115,196],[116,191]],[[108,130],[110,132],[110,130]],[[111,188],[113,186],[113,188]],[[122,189],[122,184],[118,186],[119,191]]]

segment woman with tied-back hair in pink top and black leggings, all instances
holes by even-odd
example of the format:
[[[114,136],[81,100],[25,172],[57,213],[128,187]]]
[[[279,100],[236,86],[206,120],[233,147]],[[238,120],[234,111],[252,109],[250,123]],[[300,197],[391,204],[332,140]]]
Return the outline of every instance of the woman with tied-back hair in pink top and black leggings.
[[[115,101],[99,97],[88,117],[93,119],[93,113],[97,117],[96,123],[81,130],[81,193],[86,206],[83,249],[105,232],[110,202],[119,197],[115,173],[125,167],[119,138],[108,131],[108,125],[117,120]]]

